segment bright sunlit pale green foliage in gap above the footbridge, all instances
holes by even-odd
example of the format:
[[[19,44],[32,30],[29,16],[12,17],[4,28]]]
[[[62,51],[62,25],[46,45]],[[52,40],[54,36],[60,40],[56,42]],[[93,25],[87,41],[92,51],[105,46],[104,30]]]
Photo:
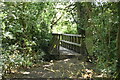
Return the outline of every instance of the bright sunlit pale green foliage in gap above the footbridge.
[[[73,16],[71,15],[74,5],[71,5],[71,3],[56,3],[55,5],[55,10],[57,12],[55,20],[59,19],[59,17],[61,17],[61,19],[53,26],[52,31],[54,33],[76,34],[77,26],[74,22]]]

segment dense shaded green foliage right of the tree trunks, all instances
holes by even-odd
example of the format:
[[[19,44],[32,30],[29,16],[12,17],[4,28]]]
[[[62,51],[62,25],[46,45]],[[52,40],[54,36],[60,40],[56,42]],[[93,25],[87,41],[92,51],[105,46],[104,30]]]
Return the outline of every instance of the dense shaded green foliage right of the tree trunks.
[[[92,32],[92,52],[90,55],[96,57],[97,68],[110,77],[115,73],[117,52],[117,9],[115,3],[106,3],[103,6],[92,8],[90,27],[87,30]],[[86,35],[87,36],[87,35]],[[113,77],[113,75],[111,75]]]

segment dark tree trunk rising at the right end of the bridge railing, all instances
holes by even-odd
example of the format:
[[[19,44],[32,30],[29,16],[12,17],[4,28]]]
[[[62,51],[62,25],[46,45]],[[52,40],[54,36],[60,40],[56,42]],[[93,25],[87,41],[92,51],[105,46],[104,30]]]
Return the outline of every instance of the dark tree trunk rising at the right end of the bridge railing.
[[[82,37],[85,37],[85,27],[86,27],[86,10],[83,5],[83,3],[76,2],[76,10],[77,10],[77,32],[80,34]],[[82,38],[81,41],[81,54],[87,54],[87,50],[85,47],[85,39]]]

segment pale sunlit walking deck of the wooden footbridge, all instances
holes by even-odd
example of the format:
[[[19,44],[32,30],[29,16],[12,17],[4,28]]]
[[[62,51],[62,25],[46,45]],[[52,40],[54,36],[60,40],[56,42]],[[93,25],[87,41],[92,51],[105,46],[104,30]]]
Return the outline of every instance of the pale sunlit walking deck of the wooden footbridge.
[[[69,49],[64,48],[62,46],[60,46],[59,51],[60,51],[60,55],[81,55],[73,50],[69,50]]]

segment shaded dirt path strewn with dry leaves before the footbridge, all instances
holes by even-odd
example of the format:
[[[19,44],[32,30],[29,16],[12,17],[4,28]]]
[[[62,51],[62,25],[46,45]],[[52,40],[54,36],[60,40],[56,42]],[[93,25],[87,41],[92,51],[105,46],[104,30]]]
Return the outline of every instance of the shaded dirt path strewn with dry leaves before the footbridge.
[[[86,78],[93,77],[94,66],[76,58],[51,60],[43,62],[30,69],[12,70],[6,74],[6,78]]]

